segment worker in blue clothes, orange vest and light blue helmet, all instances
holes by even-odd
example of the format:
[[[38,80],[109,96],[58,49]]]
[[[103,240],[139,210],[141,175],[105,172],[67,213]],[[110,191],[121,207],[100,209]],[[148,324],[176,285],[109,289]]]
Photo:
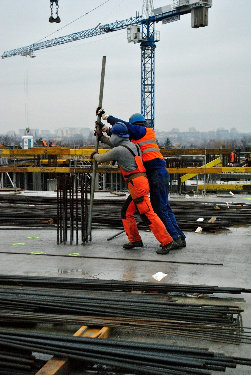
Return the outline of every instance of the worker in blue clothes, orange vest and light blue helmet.
[[[153,211],[164,223],[168,233],[176,242],[177,248],[185,248],[186,236],[179,228],[168,202],[168,185],[170,182],[170,176],[166,169],[165,160],[159,151],[155,139],[155,131],[151,127],[147,127],[146,120],[140,113],[134,113],[131,115],[129,122],[108,115],[101,107],[98,107],[96,110],[96,115],[98,114],[101,115],[103,120],[107,120],[112,126],[117,122],[124,123],[128,129],[131,142],[137,143],[140,146],[143,165],[146,168],[149,180],[150,199]],[[102,131],[109,135],[110,128],[105,125],[102,127]],[[164,249],[159,249],[157,252],[158,254],[165,254]]]

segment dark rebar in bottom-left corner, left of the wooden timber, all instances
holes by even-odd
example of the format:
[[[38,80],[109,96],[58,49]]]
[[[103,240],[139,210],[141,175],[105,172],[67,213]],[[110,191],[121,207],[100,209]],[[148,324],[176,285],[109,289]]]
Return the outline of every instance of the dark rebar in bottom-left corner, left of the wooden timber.
[[[0,343],[0,375],[35,375],[45,363],[30,350],[12,349]]]

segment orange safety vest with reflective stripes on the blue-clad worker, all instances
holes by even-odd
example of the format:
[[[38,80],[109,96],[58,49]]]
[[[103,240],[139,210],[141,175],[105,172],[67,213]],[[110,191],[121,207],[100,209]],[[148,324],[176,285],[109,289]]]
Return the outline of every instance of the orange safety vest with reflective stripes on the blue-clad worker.
[[[164,160],[155,139],[155,131],[151,127],[146,128],[146,134],[142,138],[137,141],[131,139],[131,142],[137,143],[140,146],[143,162],[156,159],[157,157]]]

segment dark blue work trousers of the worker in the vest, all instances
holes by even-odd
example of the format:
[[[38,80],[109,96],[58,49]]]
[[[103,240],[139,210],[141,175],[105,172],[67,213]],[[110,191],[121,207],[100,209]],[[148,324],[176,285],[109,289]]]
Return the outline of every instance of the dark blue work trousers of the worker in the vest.
[[[173,211],[168,202],[168,185],[170,175],[165,166],[147,171],[150,186],[150,200],[153,211],[159,216],[170,236],[177,240],[179,234],[185,238],[185,234],[179,228]]]

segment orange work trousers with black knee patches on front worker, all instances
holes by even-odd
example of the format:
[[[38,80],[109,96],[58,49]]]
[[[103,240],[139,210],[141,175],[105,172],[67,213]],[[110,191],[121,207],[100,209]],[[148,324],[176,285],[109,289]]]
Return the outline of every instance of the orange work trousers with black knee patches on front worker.
[[[149,226],[156,239],[162,246],[172,242],[173,239],[167,232],[165,225],[153,211],[148,198],[149,183],[146,177],[136,177],[128,183],[130,195],[121,208],[123,226],[129,242],[141,241],[134,213],[137,210],[143,222]]]

